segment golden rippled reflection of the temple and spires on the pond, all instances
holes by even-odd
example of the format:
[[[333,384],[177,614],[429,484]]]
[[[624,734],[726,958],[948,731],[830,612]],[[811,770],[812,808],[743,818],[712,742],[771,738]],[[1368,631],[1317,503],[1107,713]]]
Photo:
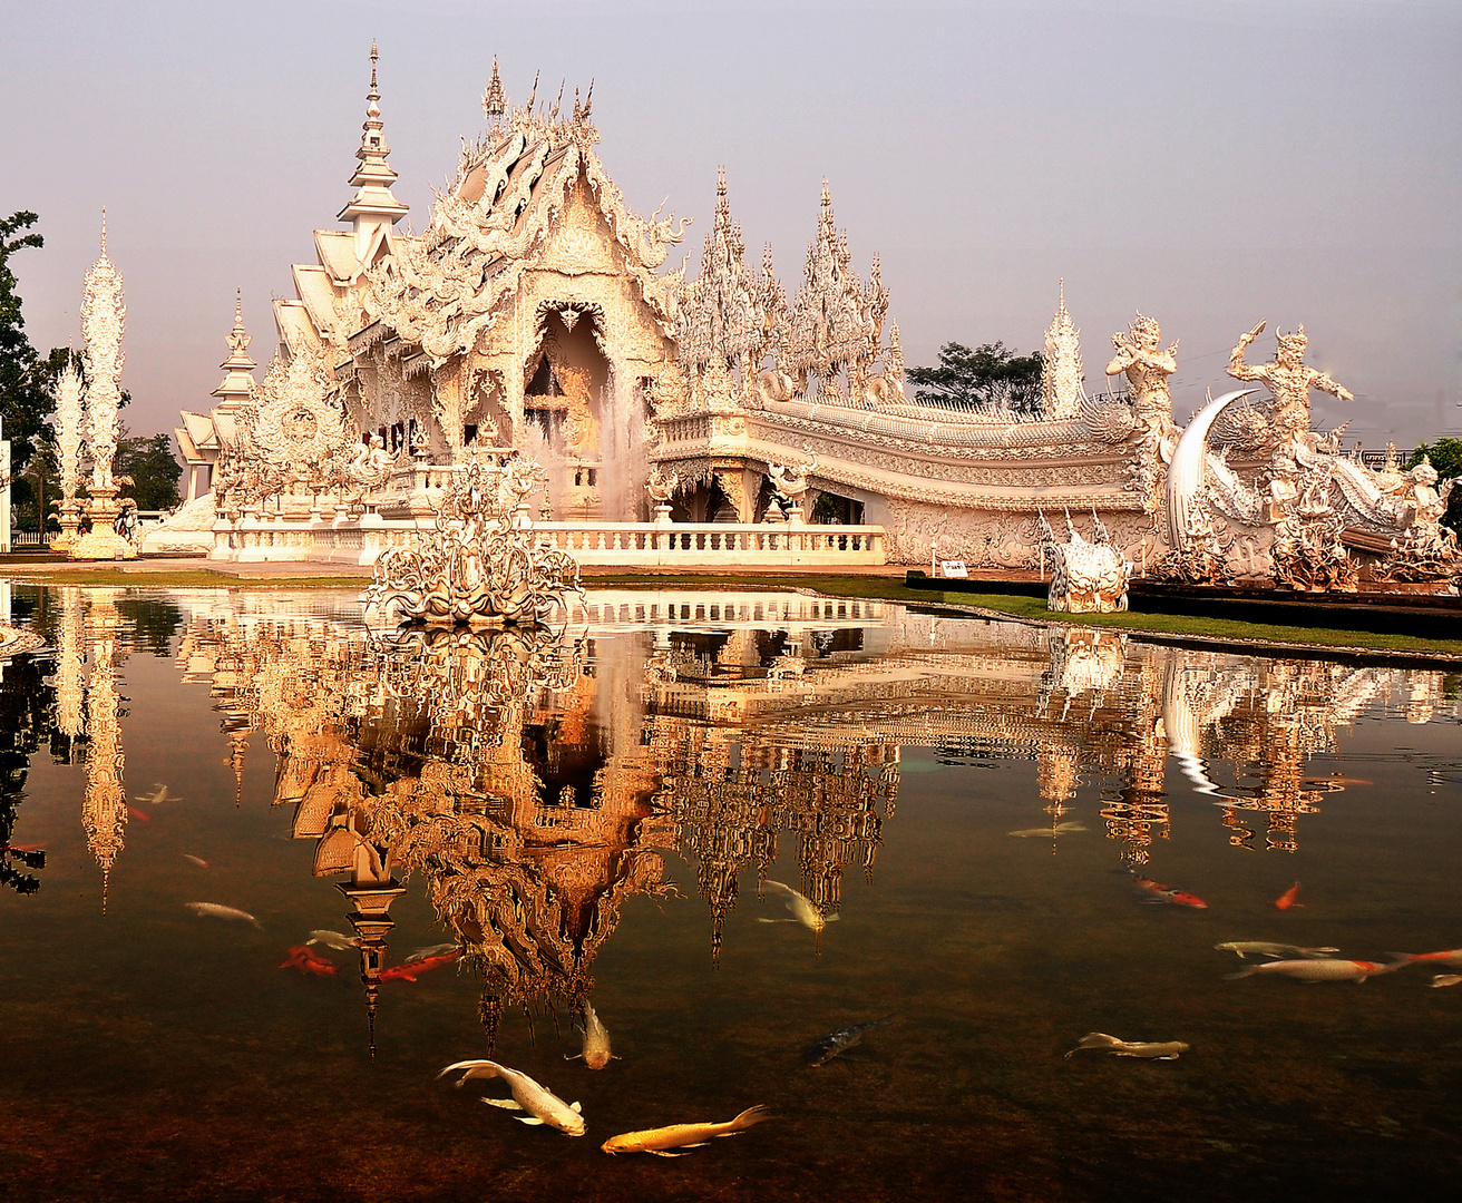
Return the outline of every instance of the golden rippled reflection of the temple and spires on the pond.
[[[118,643],[110,593],[58,599],[56,715],[85,754],[105,876],[127,819],[117,674],[137,637]],[[743,870],[765,880],[784,848],[836,914],[844,871],[871,876],[896,829],[906,747],[1034,760],[1032,816],[1053,829],[1085,779],[1120,858],[1145,864],[1174,789],[1212,800],[1235,848],[1294,851],[1300,816],[1344,786],[1307,770],[1341,728],[1455,705],[1439,672],[789,593],[591,593],[564,636],[373,629],[303,595],[178,602],[177,659],[209,686],[235,776],[257,732],[292,836],[349,900],[371,1013],[390,906],[418,874],[482,981],[490,1039],[510,1007],[588,997],[624,899],[675,889],[667,854],[694,867],[715,960]]]

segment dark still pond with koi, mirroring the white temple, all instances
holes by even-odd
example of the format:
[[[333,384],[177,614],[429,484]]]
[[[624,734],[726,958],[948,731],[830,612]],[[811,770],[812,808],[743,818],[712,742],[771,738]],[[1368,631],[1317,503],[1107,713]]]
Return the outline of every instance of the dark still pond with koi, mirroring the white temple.
[[[48,650],[0,665],[6,1200],[1455,1197],[1462,966],[1215,946],[1462,946],[1456,677],[589,602],[433,637],[15,586]],[[1189,1048],[1063,1055],[1092,1032]],[[478,1058],[585,1139],[437,1079]]]

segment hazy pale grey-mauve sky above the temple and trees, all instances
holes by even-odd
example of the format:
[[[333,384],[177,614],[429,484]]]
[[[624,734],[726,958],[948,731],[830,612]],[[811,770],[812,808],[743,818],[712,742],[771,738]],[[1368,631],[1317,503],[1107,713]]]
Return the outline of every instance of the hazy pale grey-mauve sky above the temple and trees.
[[[79,341],[107,208],[127,284],[135,433],[206,411],[234,289],[257,376],[269,298],[335,228],[371,38],[409,222],[485,123],[595,80],[598,153],[629,202],[694,215],[728,174],[749,259],[791,295],[832,184],[855,269],[874,251],[909,364],[940,344],[1029,351],[1057,278],[1088,389],[1135,310],[1181,339],[1178,421],[1237,336],[1304,323],[1316,396],[1367,446],[1462,425],[1462,4],[1456,0],[1032,3],[31,3],[0,41],[0,213],[31,341]],[[671,260],[678,262],[678,256]]]

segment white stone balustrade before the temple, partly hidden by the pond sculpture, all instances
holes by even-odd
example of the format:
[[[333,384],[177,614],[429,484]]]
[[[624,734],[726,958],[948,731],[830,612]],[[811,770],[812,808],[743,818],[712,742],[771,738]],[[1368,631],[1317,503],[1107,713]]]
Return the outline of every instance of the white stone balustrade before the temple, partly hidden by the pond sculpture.
[[[374,564],[387,547],[415,541],[431,529],[425,519],[389,519],[366,513],[289,519],[246,513],[213,525],[213,560]],[[699,564],[835,566],[883,564],[882,526],[807,526],[801,522],[673,523],[535,522],[544,547],[567,551],[580,564],[686,567]]]

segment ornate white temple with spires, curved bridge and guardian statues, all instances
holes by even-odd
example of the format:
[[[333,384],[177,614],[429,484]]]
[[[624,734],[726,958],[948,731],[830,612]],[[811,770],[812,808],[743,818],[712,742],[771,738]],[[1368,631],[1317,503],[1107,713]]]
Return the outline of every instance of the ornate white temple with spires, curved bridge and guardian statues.
[[[1038,418],[921,403],[879,260],[860,278],[826,184],[789,300],[770,247],[747,267],[724,175],[687,281],[665,270],[686,222],[630,210],[595,153],[592,89],[570,105],[535,86],[515,108],[494,63],[482,110],[425,229],[402,232],[371,48],[348,228],[314,231],[316,262],[294,266],[262,382],[235,307],[219,405],[178,430],[190,504],[149,547],[373,563],[468,463],[520,455],[548,475],[539,538],[583,561],[923,564],[937,545],[1026,569],[1041,515],[1066,510],[1180,580],[1458,574],[1436,520],[1446,487],[1313,434],[1308,387],[1339,386],[1292,341],[1263,367],[1235,348],[1231,373],[1273,396],[1221,398],[1181,460],[1177,344],[1139,314],[1107,367],[1126,392],[1089,398],[1064,285]],[[806,512],[779,504],[787,474]]]

